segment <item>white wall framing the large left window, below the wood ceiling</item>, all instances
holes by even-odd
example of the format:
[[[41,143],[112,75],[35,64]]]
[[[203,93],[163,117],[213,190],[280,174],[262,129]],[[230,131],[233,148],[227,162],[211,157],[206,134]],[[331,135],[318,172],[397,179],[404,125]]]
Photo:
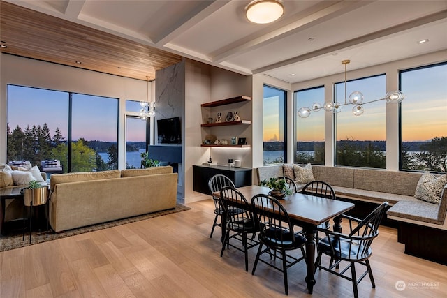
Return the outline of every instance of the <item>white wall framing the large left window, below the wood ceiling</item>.
[[[118,158],[119,168],[124,167],[125,101],[147,100],[147,82],[0,54],[0,163],[6,162],[8,84],[119,98]],[[153,96],[152,89],[154,89],[153,82],[150,82],[149,94]]]

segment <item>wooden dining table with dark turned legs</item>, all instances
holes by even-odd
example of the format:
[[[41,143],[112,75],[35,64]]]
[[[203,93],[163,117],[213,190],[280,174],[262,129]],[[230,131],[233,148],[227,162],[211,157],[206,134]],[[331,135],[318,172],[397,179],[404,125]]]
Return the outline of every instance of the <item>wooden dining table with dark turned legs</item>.
[[[259,193],[268,194],[270,188],[264,186],[244,186],[237,188],[238,191],[244,195],[247,202],[251,201],[254,195]],[[219,194],[220,195],[220,194]],[[316,283],[314,277],[314,262],[315,262],[315,241],[314,236],[316,227],[321,223],[334,220],[333,230],[335,232],[342,232],[341,222],[339,217],[344,212],[354,207],[353,203],[342,202],[337,200],[330,200],[321,198],[315,195],[305,195],[303,193],[293,193],[286,195],[284,199],[279,200],[286,209],[288,216],[291,218],[293,225],[298,225],[303,228],[306,237],[306,264],[307,276],[305,281],[307,283],[307,291],[312,294],[314,285]],[[226,233],[226,217],[221,216],[222,220],[222,235]],[[223,236],[222,236],[223,239]]]

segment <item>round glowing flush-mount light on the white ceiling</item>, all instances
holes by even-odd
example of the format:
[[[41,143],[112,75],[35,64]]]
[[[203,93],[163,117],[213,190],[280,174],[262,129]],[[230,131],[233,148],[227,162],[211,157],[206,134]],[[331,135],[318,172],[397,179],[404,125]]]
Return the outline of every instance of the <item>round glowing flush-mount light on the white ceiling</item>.
[[[284,14],[281,0],[254,0],[245,6],[245,15],[250,22],[268,24]]]

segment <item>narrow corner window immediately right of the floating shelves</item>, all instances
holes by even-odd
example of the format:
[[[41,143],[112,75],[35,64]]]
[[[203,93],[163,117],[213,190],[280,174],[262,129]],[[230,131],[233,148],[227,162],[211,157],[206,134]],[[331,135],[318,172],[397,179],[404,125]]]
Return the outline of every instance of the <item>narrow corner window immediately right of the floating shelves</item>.
[[[287,92],[264,85],[264,165],[286,162]]]

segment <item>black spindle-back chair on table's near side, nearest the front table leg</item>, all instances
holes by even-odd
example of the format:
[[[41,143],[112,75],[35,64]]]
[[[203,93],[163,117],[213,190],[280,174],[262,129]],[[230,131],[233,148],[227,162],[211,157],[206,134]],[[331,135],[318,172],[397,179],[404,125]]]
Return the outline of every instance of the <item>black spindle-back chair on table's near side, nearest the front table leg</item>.
[[[284,206],[276,198],[265,194],[255,195],[251,198],[251,209],[253,210],[255,221],[260,227],[258,237],[260,245],[251,274],[254,275],[258,261],[281,271],[284,276],[284,292],[288,295],[287,269],[300,262],[300,260],[306,260],[304,250],[306,239],[300,234],[293,232],[291,219]],[[265,245],[265,249],[263,249],[263,245]],[[298,248],[300,248],[302,253],[300,258],[295,258],[293,255],[286,253]],[[277,251],[281,253],[278,257]],[[263,260],[261,258],[263,253],[268,253],[270,259],[279,258],[282,261],[282,267],[274,265],[274,262]]]

